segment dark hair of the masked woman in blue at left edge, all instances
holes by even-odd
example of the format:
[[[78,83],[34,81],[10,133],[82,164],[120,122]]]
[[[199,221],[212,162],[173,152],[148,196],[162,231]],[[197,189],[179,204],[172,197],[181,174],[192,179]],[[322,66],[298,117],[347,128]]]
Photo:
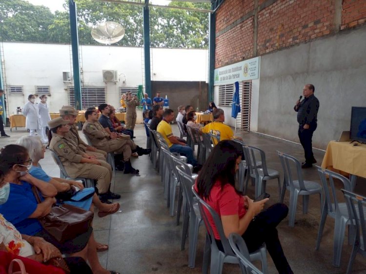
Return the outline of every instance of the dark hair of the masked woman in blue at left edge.
[[[6,175],[15,164],[28,160],[28,150],[20,145],[7,145],[0,150],[0,171]]]

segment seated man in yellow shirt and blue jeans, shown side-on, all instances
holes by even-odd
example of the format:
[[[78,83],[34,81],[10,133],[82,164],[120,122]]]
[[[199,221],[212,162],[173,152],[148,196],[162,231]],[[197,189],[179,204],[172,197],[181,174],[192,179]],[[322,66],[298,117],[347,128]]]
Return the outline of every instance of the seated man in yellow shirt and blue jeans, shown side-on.
[[[187,157],[187,162],[194,167],[197,166],[197,161],[193,157],[192,149],[185,143],[180,142],[179,138],[173,135],[172,127],[170,122],[174,120],[174,111],[166,109],[163,112],[163,120],[158,124],[157,132],[163,135],[166,143],[169,146],[170,152],[177,152]]]

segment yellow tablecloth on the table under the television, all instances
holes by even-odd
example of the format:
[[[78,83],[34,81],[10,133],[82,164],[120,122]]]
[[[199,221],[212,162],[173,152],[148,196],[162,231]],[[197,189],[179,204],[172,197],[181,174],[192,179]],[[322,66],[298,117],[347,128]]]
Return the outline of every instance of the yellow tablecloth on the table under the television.
[[[366,145],[330,141],[326,147],[322,168],[336,169],[366,178]]]

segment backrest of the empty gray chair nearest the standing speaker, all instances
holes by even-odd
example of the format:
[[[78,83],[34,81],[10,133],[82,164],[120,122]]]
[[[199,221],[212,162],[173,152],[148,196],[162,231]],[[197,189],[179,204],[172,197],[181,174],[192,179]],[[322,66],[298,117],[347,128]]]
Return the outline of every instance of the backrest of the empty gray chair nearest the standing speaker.
[[[292,169],[291,169],[291,163],[294,163],[296,166],[296,176],[297,176],[297,180],[299,181],[300,190],[306,191],[303,175],[301,172],[301,163],[299,162],[299,160],[291,155],[282,153],[280,151],[277,151],[277,154],[278,154],[278,157],[280,158],[282,169],[284,170],[284,179],[285,179],[286,186],[292,185],[292,183],[295,179],[295,176],[292,173]]]

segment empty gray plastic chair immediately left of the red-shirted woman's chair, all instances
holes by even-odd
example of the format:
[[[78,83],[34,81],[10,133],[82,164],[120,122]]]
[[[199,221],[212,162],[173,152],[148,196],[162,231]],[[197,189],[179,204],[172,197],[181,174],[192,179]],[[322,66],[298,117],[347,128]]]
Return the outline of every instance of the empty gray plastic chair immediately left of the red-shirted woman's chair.
[[[196,261],[196,251],[198,242],[198,232],[202,225],[202,217],[198,208],[198,203],[193,199],[192,185],[194,185],[194,178],[185,173],[182,165],[176,166],[183,189],[183,195],[185,200],[184,214],[183,214],[183,230],[182,230],[182,243],[181,250],[184,249],[185,239],[187,233],[189,235],[188,246],[188,267],[194,268]],[[188,232],[189,223],[189,232]]]

